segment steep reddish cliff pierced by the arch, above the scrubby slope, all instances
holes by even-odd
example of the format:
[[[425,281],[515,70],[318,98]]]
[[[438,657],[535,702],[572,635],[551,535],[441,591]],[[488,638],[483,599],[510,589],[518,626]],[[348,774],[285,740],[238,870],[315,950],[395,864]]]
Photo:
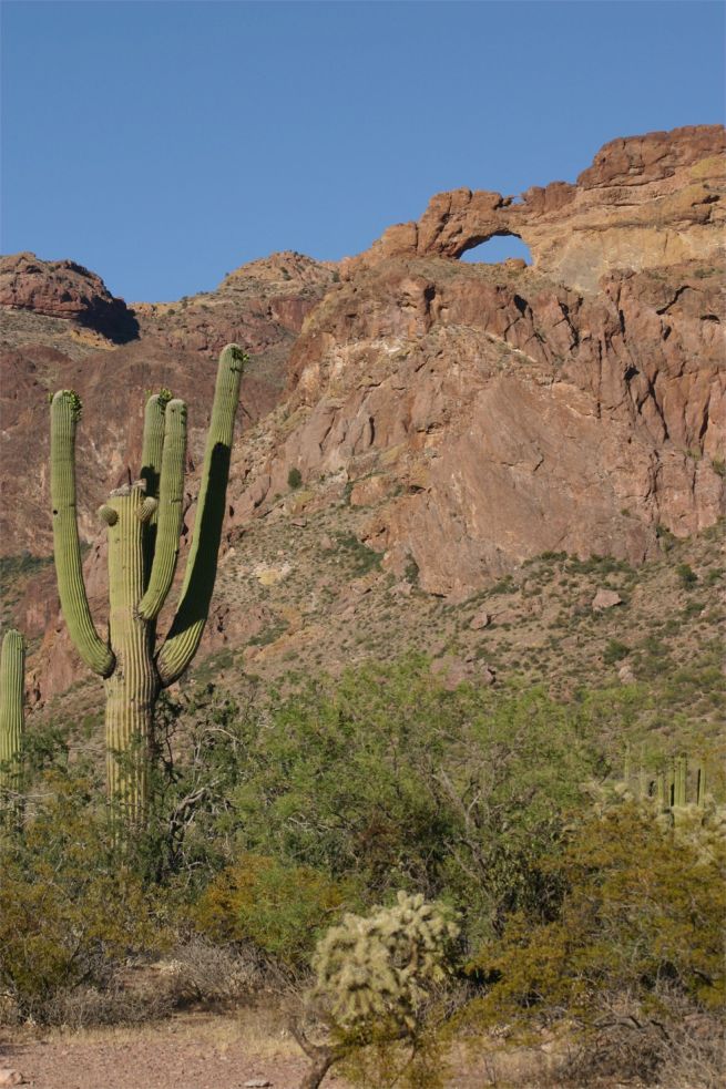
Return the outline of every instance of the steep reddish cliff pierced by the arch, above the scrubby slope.
[[[724,132],[615,141],[522,204],[457,191],[349,260],[290,358],[289,466],[345,474],[367,542],[461,598],[545,551],[641,561],[725,513]],[[517,233],[533,266],[462,265]]]

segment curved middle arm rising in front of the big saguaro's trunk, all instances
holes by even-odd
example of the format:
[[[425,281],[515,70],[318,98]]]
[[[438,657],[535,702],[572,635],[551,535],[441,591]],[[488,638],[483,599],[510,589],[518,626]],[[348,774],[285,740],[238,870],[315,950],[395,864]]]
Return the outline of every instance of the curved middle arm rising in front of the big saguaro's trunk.
[[[185,455],[186,404],[173,400],[165,412],[154,562],[146,593],[139,603],[139,615],[144,620],[159,616],[174,581],[183,518]]]

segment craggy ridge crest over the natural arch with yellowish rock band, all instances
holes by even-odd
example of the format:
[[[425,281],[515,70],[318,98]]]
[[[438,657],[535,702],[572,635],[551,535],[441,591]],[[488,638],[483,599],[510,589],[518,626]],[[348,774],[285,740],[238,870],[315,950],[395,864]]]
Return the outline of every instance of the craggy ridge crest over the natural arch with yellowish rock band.
[[[389,227],[348,261],[346,275],[390,257],[460,257],[494,235],[519,236],[538,271],[591,292],[614,268],[717,259],[725,147],[720,125],[675,129],[614,140],[576,185],[535,186],[520,203],[484,191],[439,193],[417,223]]]

